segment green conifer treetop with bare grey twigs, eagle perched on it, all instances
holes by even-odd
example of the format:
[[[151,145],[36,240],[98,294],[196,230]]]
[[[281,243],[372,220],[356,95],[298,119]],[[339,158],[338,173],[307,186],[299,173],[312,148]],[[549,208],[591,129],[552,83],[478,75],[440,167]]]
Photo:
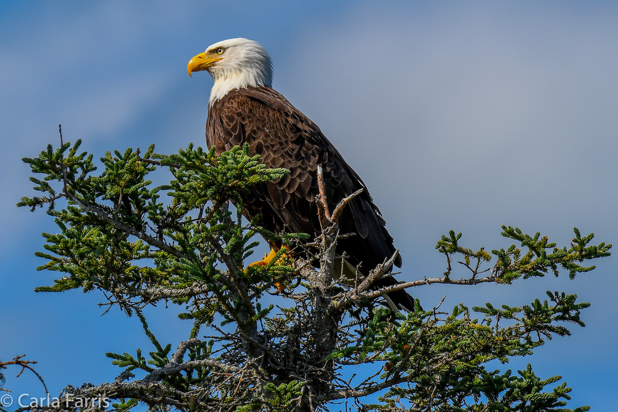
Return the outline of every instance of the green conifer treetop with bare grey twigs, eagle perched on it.
[[[339,233],[339,218],[362,191],[331,211],[321,168],[316,206],[322,233],[307,240],[298,233],[268,232],[256,219],[242,223],[243,196],[252,185],[288,172],[266,169],[247,146],[220,156],[193,145],[170,156],[153,154],[154,146],[143,156],[114,151],[101,158],[104,170],[97,176],[92,155],[77,154],[78,146],[62,140],[56,151],[48,146],[38,158],[24,159],[34,173],[44,174],[33,178],[43,195],[22,198],[19,206],[49,206],[59,229],[44,234],[47,243],[37,256],[47,262],[40,269],[62,277],[36,290],[101,290],[108,310],[117,304],[137,314],[152,350],[108,353],[122,368],[114,382],[67,387],[61,398],[68,407],[28,409],[96,409],[69,400],[68,393],[117,400],[113,408],[119,412],[140,402],[153,410],[190,412],[323,411],[344,399],[359,410],[379,412],[471,412],[489,403],[516,409],[522,402],[549,412],[566,405],[571,389],[548,386],[559,377],[541,380],[531,367],[516,375],[488,371],[486,365],[530,355],[552,337],[568,336],[571,326],[583,326],[582,311],[590,305],[576,295],[547,292],[544,300],[527,305],[461,304],[452,311],[440,309],[444,300],[430,311],[417,301],[408,314],[384,308],[381,296],[431,284],[508,285],[561,270],[572,278],[594,269],[584,263],[610,254],[611,245],[593,245],[592,234],[574,229],[570,246],[558,248],[540,233],[504,226],[502,235],[517,245],[489,253],[462,246],[461,233],[451,231],[436,244],[447,259],[441,277],[376,288],[387,280],[399,251],[368,272],[357,267],[353,279],[344,279],[343,266],[342,277],[333,278],[337,242],[354,235]],[[172,174],[168,185],[153,187],[146,179],[159,173],[155,166]],[[159,193],[171,200],[159,201]],[[61,198],[66,208],[57,210]],[[230,201],[235,214],[227,208]],[[290,249],[268,264],[244,267],[257,234]],[[454,279],[458,268],[465,268],[462,279]],[[278,296],[269,298],[271,304],[263,296],[273,286]],[[184,310],[179,317],[193,322],[175,351],[171,343],[159,342],[142,311],[159,301],[179,305]],[[208,336],[201,340],[205,329]],[[358,365],[374,369],[355,376],[350,368]],[[129,382],[140,371],[145,377]],[[380,403],[363,400],[376,393]]]

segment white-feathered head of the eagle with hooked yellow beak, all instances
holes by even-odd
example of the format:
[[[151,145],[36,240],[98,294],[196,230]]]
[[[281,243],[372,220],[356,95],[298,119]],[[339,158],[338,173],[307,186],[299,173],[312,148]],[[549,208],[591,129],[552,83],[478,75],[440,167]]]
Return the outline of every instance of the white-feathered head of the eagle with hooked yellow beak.
[[[208,70],[214,80],[209,106],[230,90],[273,86],[273,61],[268,52],[257,41],[242,37],[214,43],[193,57],[187,65],[188,74],[200,70]]]

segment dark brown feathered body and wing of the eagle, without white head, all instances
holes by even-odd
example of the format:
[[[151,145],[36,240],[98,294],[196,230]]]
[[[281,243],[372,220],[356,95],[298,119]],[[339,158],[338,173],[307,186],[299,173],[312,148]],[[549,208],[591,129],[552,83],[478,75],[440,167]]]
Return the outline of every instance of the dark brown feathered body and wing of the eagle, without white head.
[[[314,200],[318,193],[317,167],[321,165],[331,210],[345,196],[363,189],[340,220],[342,233],[357,235],[339,242],[337,252],[345,251],[353,265],[362,262],[365,272],[392,256],[392,237],[365,183],[320,128],[284,96],[272,88],[249,87],[230,91],[210,107],[208,148],[214,146],[221,153],[243,143],[248,143],[250,154],[259,154],[266,166],[290,170],[289,175],[252,189],[251,196],[243,200],[245,216],[260,216],[260,224],[273,232],[286,229],[318,235],[320,222]],[[401,265],[400,258],[396,265]]]

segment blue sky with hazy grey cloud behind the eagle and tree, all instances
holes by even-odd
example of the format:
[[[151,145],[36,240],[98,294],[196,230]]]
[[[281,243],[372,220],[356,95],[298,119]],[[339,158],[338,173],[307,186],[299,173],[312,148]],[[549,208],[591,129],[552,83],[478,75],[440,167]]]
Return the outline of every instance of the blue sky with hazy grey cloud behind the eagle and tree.
[[[78,291],[37,294],[43,212],[15,208],[32,193],[20,159],[82,138],[95,153],[203,145],[212,80],[190,57],[226,38],[258,40],[274,87],[320,125],[362,175],[402,250],[401,279],[444,271],[434,245],[464,233],[472,248],[509,243],[502,224],[567,244],[572,227],[618,243],[616,2],[18,2],[0,3],[0,359],[27,353],[52,393],[119,370],[106,351],[148,348],[137,319]],[[572,405],[609,410],[618,383],[611,316],[616,258],[576,280],[412,291],[426,307],[465,301],[522,305],[545,290],[592,303],[585,328],[530,361],[574,387]],[[161,340],[185,338],[174,310],[148,311]],[[85,368],[84,365],[87,365]],[[14,393],[42,396],[26,372]]]

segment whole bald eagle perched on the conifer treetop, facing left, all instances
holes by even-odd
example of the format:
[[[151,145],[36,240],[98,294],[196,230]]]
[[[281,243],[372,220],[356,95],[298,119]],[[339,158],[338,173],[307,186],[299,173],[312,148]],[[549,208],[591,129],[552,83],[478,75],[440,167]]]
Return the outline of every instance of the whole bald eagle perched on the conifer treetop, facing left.
[[[367,275],[391,258],[395,252],[393,239],[365,183],[320,127],[273,89],[273,63],[259,43],[245,38],[215,43],[189,61],[189,75],[200,70],[207,70],[214,80],[206,120],[208,148],[214,147],[220,154],[248,143],[250,154],[259,154],[266,166],[290,170],[281,179],[252,187],[242,203],[248,219],[259,216],[259,224],[275,233],[288,230],[319,235],[315,197],[321,166],[330,210],[346,196],[363,189],[339,221],[341,233],[355,233],[337,244],[337,254],[345,252],[344,266],[354,273],[362,263],[360,271]],[[400,256],[394,264],[401,266]],[[397,280],[388,276],[374,286],[395,284]],[[384,297],[395,310],[414,309],[412,296],[405,290]]]

